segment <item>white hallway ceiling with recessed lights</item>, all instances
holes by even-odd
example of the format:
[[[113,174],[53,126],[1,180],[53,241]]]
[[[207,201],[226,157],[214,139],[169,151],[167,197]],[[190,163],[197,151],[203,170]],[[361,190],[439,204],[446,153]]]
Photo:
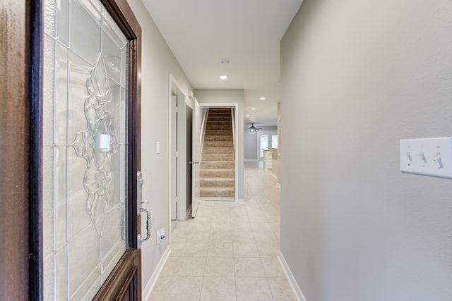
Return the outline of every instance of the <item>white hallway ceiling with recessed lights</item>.
[[[245,124],[276,125],[280,39],[303,0],[142,1],[195,89],[244,89]]]

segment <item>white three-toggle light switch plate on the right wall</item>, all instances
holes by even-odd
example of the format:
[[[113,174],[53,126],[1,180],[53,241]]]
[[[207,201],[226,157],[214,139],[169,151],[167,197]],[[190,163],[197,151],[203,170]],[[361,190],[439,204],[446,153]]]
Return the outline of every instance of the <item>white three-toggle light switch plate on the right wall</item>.
[[[452,137],[400,140],[400,171],[452,178]]]

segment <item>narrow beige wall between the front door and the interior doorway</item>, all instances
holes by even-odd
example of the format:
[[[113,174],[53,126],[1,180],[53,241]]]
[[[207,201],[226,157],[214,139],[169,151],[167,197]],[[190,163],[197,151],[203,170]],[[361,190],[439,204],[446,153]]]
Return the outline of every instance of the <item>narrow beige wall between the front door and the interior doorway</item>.
[[[141,0],[128,0],[143,30],[141,53],[141,170],[143,199],[152,216],[150,241],[143,243],[143,295],[148,293],[151,276],[162,259],[169,240],[155,242],[156,232],[169,233],[169,75],[172,74],[186,96],[192,90],[189,80],[174,58]],[[160,141],[161,152],[155,153]],[[143,218],[144,220],[144,218]],[[145,222],[142,225],[145,233]]]

